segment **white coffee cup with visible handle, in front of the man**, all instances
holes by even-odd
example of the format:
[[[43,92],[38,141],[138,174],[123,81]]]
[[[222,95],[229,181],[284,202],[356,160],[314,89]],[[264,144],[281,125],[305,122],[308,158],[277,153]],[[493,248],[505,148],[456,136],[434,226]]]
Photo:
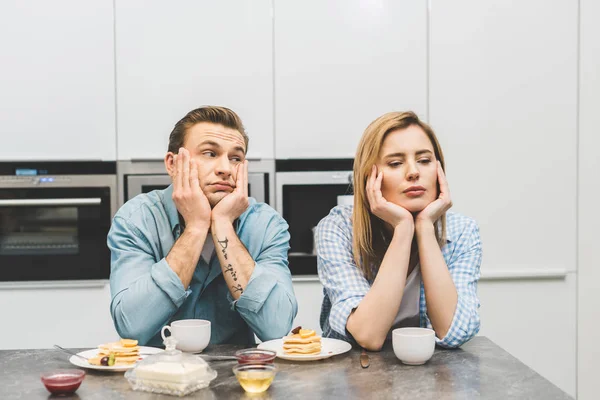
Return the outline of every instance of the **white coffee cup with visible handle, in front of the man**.
[[[210,321],[204,319],[182,319],[163,326],[160,331],[163,340],[167,338],[166,330],[177,340],[177,348],[181,351],[199,353],[210,342]]]

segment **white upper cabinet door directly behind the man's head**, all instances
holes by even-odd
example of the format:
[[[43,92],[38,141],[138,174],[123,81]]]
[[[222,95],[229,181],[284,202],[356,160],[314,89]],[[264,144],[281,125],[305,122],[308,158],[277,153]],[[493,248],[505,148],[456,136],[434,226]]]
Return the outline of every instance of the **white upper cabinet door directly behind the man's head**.
[[[118,158],[156,159],[188,111],[237,112],[273,158],[271,0],[117,0]]]

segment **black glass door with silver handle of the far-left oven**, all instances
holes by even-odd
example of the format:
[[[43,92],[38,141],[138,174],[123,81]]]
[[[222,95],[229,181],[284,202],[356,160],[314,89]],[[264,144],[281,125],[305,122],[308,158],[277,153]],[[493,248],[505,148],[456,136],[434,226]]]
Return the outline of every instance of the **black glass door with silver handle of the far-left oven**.
[[[110,187],[0,187],[0,281],[108,279]]]

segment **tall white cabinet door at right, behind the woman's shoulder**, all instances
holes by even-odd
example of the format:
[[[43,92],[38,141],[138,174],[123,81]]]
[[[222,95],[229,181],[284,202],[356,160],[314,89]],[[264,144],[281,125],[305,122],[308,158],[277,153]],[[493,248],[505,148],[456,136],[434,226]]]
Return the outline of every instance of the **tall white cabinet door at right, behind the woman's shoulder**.
[[[487,271],[575,271],[577,13],[570,0],[432,1],[430,122]]]

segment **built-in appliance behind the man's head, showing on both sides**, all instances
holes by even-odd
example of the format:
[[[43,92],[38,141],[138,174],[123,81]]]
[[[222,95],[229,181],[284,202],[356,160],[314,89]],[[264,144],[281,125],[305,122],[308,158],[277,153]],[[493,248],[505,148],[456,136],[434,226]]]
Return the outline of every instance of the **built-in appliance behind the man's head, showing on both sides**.
[[[119,161],[119,204],[138,194],[165,189],[171,184],[162,160]],[[274,185],[273,160],[248,160],[248,195],[256,201],[274,204],[270,188]]]

